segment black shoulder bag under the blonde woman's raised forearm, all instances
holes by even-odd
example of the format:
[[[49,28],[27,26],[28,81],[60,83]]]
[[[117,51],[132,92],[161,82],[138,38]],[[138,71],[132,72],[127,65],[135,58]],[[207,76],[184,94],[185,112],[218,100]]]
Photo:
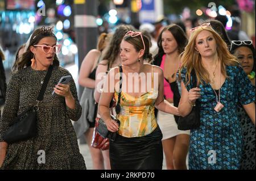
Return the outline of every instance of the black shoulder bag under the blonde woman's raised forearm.
[[[196,87],[196,73],[192,69],[192,87]],[[193,106],[191,112],[185,117],[179,117],[177,128],[182,131],[189,129],[196,129],[200,127],[200,102],[196,99],[196,104]]]

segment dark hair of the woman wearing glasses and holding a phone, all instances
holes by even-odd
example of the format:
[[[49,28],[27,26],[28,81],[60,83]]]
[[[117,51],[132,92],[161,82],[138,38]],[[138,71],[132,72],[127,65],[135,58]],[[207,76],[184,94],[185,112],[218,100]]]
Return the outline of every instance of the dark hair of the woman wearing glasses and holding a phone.
[[[51,31],[42,31],[41,28],[36,29],[30,38],[29,44],[25,52],[22,54],[22,60],[18,63],[18,70],[31,65],[31,59],[34,54],[30,51],[30,47],[39,43],[44,37],[54,37],[57,41],[57,37]],[[55,53],[53,59],[53,66],[59,66],[60,62]]]

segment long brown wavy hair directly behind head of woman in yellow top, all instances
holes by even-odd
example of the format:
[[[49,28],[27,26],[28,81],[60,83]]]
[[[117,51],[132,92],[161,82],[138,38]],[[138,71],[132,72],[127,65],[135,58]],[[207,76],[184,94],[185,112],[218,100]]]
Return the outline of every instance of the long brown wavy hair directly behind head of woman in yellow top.
[[[112,67],[113,62],[115,61],[115,58],[119,56],[120,53],[120,44],[123,39],[123,36],[128,31],[134,31],[135,28],[131,25],[120,25],[117,27],[115,30],[112,39],[110,40],[110,43],[107,47],[106,52],[104,53],[103,60],[108,60],[109,62],[109,67]]]

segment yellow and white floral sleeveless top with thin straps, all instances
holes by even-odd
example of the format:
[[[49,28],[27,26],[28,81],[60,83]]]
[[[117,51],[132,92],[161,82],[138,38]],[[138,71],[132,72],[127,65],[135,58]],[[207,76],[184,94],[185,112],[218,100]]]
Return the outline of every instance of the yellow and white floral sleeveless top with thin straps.
[[[158,90],[154,90],[153,67],[151,70],[151,90],[135,97],[121,91],[121,112],[117,119],[120,121],[118,134],[124,137],[142,137],[150,134],[158,127],[155,119],[155,100]],[[114,93],[118,100],[118,92]]]

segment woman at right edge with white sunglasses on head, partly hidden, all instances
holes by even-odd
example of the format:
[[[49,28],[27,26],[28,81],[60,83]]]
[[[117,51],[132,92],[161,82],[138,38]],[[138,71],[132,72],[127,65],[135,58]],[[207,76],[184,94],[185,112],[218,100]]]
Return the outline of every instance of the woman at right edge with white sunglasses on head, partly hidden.
[[[232,41],[231,52],[240,60],[241,66],[250,78],[255,90],[255,49],[252,41]],[[238,116],[243,132],[240,169],[255,170],[255,126],[241,105],[238,106]]]

